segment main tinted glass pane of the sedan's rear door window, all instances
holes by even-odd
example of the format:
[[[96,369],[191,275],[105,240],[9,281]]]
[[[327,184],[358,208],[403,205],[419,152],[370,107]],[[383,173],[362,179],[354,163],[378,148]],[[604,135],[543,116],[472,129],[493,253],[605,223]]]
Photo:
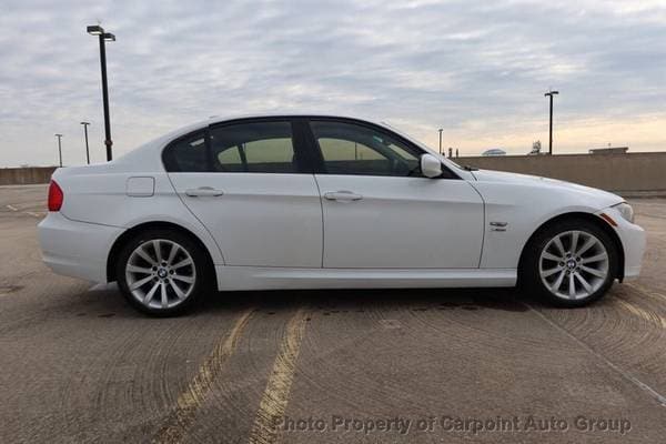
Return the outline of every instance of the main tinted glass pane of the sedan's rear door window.
[[[211,130],[213,169],[219,172],[299,172],[290,122],[238,123]]]

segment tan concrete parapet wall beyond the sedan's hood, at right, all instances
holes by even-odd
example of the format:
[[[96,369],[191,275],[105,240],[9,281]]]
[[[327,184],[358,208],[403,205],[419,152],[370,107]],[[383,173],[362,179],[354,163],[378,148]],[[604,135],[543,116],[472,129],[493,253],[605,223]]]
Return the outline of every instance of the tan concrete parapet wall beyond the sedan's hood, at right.
[[[666,191],[666,152],[453,159],[485,170],[562,179],[608,191]]]

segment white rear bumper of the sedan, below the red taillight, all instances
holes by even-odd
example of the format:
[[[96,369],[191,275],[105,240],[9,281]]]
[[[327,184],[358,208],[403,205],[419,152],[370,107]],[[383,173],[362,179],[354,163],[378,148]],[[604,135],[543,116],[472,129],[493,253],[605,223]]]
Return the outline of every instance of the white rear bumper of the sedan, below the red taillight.
[[[58,274],[107,282],[111,245],[123,232],[118,226],[78,222],[49,212],[38,225],[42,260]]]

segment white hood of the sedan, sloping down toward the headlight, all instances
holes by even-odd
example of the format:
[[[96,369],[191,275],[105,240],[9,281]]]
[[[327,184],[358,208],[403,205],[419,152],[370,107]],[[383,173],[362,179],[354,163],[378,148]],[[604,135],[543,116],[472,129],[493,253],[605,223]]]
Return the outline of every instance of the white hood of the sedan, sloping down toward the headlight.
[[[592,186],[581,185],[578,183],[566,182],[557,179],[542,178],[531,174],[509,173],[493,170],[476,170],[472,172],[477,181],[482,182],[502,182],[516,185],[553,189],[565,192],[573,192],[582,196],[604,201],[606,206],[624,202],[624,199],[617,194],[609,193]]]

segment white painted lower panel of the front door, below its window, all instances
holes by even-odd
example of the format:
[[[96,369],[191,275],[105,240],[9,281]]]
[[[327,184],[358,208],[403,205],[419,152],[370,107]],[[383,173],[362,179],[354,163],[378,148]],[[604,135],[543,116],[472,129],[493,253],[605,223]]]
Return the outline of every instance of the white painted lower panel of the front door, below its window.
[[[315,176],[324,195],[324,268],[478,268],[483,202],[468,182]],[[362,199],[340,202],[325,198],[349,190]]]

